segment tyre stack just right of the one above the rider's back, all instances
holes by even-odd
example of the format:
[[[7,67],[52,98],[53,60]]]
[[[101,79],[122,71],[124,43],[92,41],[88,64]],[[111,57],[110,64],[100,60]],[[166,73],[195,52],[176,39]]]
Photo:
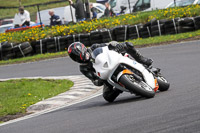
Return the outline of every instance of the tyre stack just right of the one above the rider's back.
[[[128,39],[140,38],[138,25],[131,25],[128,27]]]

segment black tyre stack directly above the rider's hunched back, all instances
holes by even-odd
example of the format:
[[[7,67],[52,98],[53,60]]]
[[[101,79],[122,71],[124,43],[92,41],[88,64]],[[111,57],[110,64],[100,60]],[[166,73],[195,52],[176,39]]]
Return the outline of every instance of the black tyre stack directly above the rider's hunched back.
[[[127,32],[128,31],[128,26],[123,25],[123,26],[117,26],[114,28],[114,34],[116,36],[116,41],[118,42],[123,42],[126,41],[127,38]]]

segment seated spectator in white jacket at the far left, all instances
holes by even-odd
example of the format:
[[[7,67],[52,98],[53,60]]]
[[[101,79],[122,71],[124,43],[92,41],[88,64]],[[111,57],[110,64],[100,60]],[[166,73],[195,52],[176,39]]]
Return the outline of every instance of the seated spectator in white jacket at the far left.
[[[19,13],[15,14],[14,17],[14,26],[21,27],[21,26],[30,26],[30,13],[27,10],[24,10],[23,6],[19,7]]]

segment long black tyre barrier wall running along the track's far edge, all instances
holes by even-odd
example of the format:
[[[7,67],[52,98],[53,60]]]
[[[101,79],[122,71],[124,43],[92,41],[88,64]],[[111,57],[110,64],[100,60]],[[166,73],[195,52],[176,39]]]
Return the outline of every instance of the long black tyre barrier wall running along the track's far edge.
[[[44,38],[30,43],[17,44],[6,41],[0,43],[0,60],[64,51],[71,43],[76,41],[91,46],[95,43],[122,42],[128,39],[178,34],[199,29],[200,16],[197,16],[170,20],[152,19],[146,24],[121,25],[111,29],[97,29],[90,33]]]

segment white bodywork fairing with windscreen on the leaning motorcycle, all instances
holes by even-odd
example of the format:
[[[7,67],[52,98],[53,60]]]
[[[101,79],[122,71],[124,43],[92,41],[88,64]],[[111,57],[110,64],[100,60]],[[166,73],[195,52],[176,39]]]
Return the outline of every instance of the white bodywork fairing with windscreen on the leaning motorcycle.
[[[95,49],[92,56],[95,59],[93,62],[93,67],[96,70],[97,76],[103,80],[107,80],[111,85],[116,86],[120,90],[127,91],[120,85],[116,85],[116,83],[111,79],[113,73],[120,64],[126,64],[140,71],[145,82],[152,89],[156,87],[153,74],[149,72],[142,64],[128,57],[124,57],[122,54],[119,54],[113,50],[109,50],[108,46]],[[118,75],[118,79],[121,75]]]

